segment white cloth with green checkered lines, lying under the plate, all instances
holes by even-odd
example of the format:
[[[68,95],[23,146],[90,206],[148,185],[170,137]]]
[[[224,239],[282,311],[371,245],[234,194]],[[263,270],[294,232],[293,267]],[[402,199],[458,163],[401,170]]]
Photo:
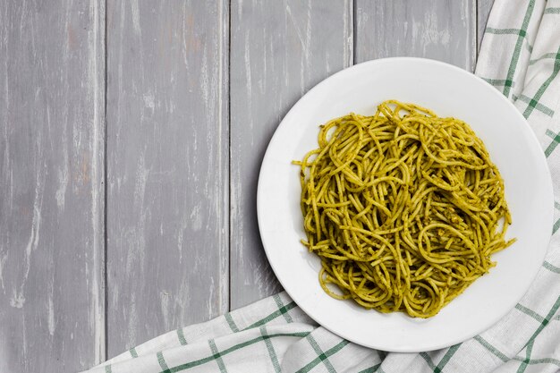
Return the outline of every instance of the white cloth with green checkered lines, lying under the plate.
[[[560,188],[560,0],[496,0],[476,73],[529,120]],[[482,335],[444,350],[386,353],[317,326],[283,292],[187,326],[91,372],[556,372],[560,203],[546,261],[522,301]]]

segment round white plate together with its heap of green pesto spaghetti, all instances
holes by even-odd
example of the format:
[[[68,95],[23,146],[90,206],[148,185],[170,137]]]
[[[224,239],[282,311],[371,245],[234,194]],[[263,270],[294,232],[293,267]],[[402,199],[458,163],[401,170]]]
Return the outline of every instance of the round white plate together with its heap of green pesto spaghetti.
[[[388,352],[461,343],[503,318],[542,264],[553,206],[522,114],[470,72],[409,57],[357,64],[301,97],[257,196],[293,301]]]

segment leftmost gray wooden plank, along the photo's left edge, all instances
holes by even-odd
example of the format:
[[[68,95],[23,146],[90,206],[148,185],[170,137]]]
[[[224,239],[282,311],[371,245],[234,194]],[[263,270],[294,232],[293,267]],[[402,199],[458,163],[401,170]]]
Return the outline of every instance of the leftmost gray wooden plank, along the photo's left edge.
[[[0,2],[0,371],[105,359],[103,2]]]

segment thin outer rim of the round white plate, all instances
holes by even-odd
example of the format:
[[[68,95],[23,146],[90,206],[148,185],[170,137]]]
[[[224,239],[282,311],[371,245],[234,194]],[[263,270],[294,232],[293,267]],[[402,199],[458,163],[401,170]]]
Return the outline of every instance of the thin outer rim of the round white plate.
[[[348,73],[347,71],[356,69],[356,68],[360,68],[363,67],[364,65],[367,64],[371,64],[371,65],[375,65],[375,64],[386,64],[386,63],[391,63],[394,61],[407,61],[410,63],[422,63],[422,64],[435,64],[435,65],[439,65],[441,67],[444,68],[448,68],[448,69],[452,69],[455,72],[461,73],[463,75],[468,75],[471,78],[475,78],[476,80],[478,80],[479,82],[482,82],[484,85],[488,86],[488,88],[491,89],[492,94],[496,97],[499,97],[500,100],[505,101],[507,103],[508,106],[510,106],[510,108],[513,110],[514,115],[516,115],[519,119],[522,120],[522,123],[524,123],[525,126],[528,127],[528,129],[530,130],[530,139],[529,141],[531,143],[533,143],[533,145],[537,145],[541,150],[542,147],[540,146],[539,143],[539,139],[537,138],[536,133],[532,130],[530,123],[527,121],[527,119],[522,115],[522,113],[513,105],[513,103],[507,98],[505,97],[500,91],[498,91],[495,87],[493,87],[491,84],[489,84],[487,81],[484,81],[483,79],[481,79],[479,76],[477,76],[476,74],[474,74],[473,72],[468,72],[458,66],[455,66],[453,64],[447,64],[445,62],[442,61],[438,61],[438,60],[434,60],[431,58],[422,58],[422,57],[409,57],[409,56],[403,56],[403,57],[387,57],[387,58],[378,58],[375,60],[369,60],[366,62],[363,62],[361,64],[354,64],[350,67],[344,68],[343,70],[340,70],[338,72],[335,72],[329,76],[327,76],[325,79],[323,79],[322,81],[319,81],[315,86],[313,86],[311,89],[309,89],[307,92],[305,92],[303,95],[301,95],[301,97],[299,97],[297,99],[297,101],[293,104],[293,106],[290,108],[290,110],[288,110],[288,112],[284,115],[284,117],[282,118],[282,120],[280,121],[280,123],[278,123],[278,126],[276,127],[276,130],[274,131],[273,136],[271,137],[270,141],[267,144],[267,150],[264,154],[264,157],[262,158],[262,162],[260,165],[260,169],[259,169],[259,180],[258,180],[258,184],[257,184],[257,220],[258,220],[258,225],[259,225],[259,235],[260,235],[260,241],[262,243],[262,246],[265,250],[265,254],[267,256],[267,262],[269,263],[270,267],[272,268],[276,279],[278,280],[278,282],[282,285],[284,291],[292,298],[292,300],[298,305],[298,307],[300,307],[300,309],[311,319],[313,319],[316,323],[318,323],[319,326],[322,326],[324,328],[326,328],[327,330],[329,330],[331,333],[338,335],[352,343],[356,343],[368,348],[373,348],[376,350],[383,350],[386,352],[428,352],[428,351],[434,351],[434,350],[439,350],[445,347],[449,347],[452,346],[456,343],[462,343],[468,339],[471,339],[472,337],[479,335],[481,333],[484,333],[486,330],[488,330],[490,327],[496,325],[496,323],[501,319],[504,318],[505,315],[510,312],[513,309],[513,306],[505,309],[504,312],[502,312],[499,317],[497,317],[496,319],[492,319],[491,322],[488,323],[488,326],[484,327],[482,330],[478,330],[476,332],[474,332],[472,335],[467,336],[467,338],[463,338],[463,337],[459,337],[459,338],[450,338],[449,342],[447,343],[434,343],[433,345],[431,345],[427,350],[424,349],[415,349],[415,348],[390,348],[387,349],[386,347],[383,346],[379,346],[376,345],[375,343],[361,343],[361,342],[356,342],[354,338],[352,338],[352,335],[346,335],[345,333],[339,333],[339,332],[335,332],[333,331],[329,326],[325,326],[323,325],[317,318],[315,318],[312,313],[310,312],[309,309],[305,306],[301,306],[299,301],[296,301],[296,299],[293,297],[293,292],[291,290],[288,290],[285,286],[284,286],[284,282],[283,280],[280,278],[280,276],[278,276],[278,269],[276,268],[276,264],[270,260],[270,254],[269,254],[269,250],[271,250],[270,247],[267,247],[267,243],[265,242],[265,240],[263,239],[263,237],[265,236],[264,231],[263,231],[263,217],[264,213],[262,212],[262,206],[263,206],[263,200],[265,199],[265,196],[263,195],[263,188],[262,188],[262,181],[263,181],[263,174],[267,168],[267,164],[270,162],[270,145],[273,143],[273,141],[275,140],[278,131],[281,129],[281,127],[283,126],[283,124],[286,122],[286,118],[289,118],[292,116],[293,112],[295,110],[297,110],[299,108],[299,106],[301,105],[301,101],[303,100],[304,97],[307,97],[308,95],[310,95],[312,92],[314,92],[315,90],[318,90],[320,87],[322,87],[323,85],[326,85],[328,81],[333,80],[335,77],[337,77],[340,74],[344,74],[344,73]],[[284,124],[285,125],[285,124]],[[553,182],[552,182],[552,176],[550,173],[550,168],[548,166],[547,163],[547,158],[544,155],[544,152],[539,152],[539,163],[543,163],[544,165],[546,165],[545,167],[545,176],[546,176],[546,185],[544,186],[544,188],[547,189],[547,199],[548,199],[548,208],[547,211],[543,211],[543,217],[545,219],[544,224],[547,225],[547,227],[550,228],[550,232],[552,232],[552,227],[554,225],[554,188],[553,188]],[[549,245],[550,239],[552,238],[552,234],[550,234],[550,236],[547,239],[547,247]],[[546,258],[547,255],[547,249],[543,250],[543,254],[542,254],[542,258],[541,258],[541,262],[543,262]],[[523,289],[523,292],[520,292],[520,294],[522,294],[520,297],[517,298],[517,300],[515,302],[519,302],[522,297],[527,293],[527,291],[530,289],[530,285],[534,283],[535,278],[537,277],[538,273],[539,273],[539,269],[541,266],[536,267],[533,270],[533,274],[531,276],[531,281],[528,282],[528,284],[526,284],[525,288]]]

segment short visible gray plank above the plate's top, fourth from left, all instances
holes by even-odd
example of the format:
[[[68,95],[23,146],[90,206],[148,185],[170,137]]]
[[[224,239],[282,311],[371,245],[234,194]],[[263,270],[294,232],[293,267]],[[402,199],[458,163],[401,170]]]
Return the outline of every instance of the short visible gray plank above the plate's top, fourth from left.
[[[356,0],[356,62],[433,58],[474,70],[475,0]]]

